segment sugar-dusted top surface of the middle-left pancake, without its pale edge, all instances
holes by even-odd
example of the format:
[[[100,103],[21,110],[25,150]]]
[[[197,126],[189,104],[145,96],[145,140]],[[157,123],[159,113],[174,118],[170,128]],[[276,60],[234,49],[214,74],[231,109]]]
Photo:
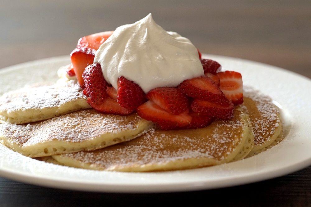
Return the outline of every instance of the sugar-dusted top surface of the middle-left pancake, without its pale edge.
[[[135,130],[140,120],[137,114],[109,115],[89,109],[32,124],[0,124],[0,134],[23,146],[52,140],[82,142],[105,133]]]

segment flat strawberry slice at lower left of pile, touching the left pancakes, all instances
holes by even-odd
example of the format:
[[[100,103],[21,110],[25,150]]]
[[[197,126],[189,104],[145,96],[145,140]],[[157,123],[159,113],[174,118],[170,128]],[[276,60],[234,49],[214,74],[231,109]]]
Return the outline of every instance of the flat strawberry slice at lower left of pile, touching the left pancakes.
[[[132,110],[123,108],[116,100],[109,97],[106,97],[100,104],[94,104],[90,97],[86,99],[86,102],[88,102],[93,109],[106,114],[129,115],[133,112]]]

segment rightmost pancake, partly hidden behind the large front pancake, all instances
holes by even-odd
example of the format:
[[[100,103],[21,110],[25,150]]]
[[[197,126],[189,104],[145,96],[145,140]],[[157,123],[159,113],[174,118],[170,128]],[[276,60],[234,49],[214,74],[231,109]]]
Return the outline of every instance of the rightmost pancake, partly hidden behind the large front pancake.
[[[279,108],[270,97],[244,87],[242,110],[248,114],[254,133],[254,147],[246,156],[251,157],[266,151],[283,139],[281,115]]]

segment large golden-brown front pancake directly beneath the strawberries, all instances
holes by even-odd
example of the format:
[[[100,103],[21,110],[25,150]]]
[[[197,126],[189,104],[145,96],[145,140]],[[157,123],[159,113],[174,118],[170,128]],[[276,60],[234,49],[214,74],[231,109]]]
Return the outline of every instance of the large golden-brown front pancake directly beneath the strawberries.
[[[243,146],[249,146],[249,140],[253,140],[248,122],[248,115],[237,108],[233,118],[216,120],[205,128],[154,129],[101,150],[52,157],[67,166],[107,171],[145,172],[212,166],[247,155],[243,154],[246,151]]]

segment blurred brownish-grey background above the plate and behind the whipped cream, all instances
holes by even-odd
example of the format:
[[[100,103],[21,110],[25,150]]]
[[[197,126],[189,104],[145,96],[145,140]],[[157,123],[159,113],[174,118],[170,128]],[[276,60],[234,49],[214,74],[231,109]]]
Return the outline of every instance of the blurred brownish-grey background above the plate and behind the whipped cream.
[[[0,68],[69,56],[80,37],[149,13],[202,53],[259,61],[311,78],[310,0],[1,0]]]

